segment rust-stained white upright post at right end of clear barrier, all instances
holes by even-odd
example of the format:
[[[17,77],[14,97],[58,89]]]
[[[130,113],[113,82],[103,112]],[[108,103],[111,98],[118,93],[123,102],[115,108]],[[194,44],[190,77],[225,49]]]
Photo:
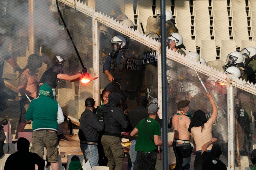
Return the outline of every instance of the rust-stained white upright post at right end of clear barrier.
[[[234,93],[231,84],[231,75],[227,75],[227,132],[228,132],[228,169],[235,169],[235,113],[234,113]]]

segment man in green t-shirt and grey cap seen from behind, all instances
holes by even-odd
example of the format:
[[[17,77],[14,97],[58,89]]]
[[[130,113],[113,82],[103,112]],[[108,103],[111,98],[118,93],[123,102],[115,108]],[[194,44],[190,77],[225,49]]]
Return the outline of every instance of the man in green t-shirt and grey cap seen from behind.
[[[160,124],[155,120],[158,110],[159,107],[157,104],[149,105],[149,117],[139,121],[137,127],[131,132],[131,136],[135,136],[138,133],[135,145],[137,157],[134,169],[155,170],[158,154],[157,146],[162,145],[162,141],[160,140]],[[172,145],[172,142],[168,141],[168,145]]]

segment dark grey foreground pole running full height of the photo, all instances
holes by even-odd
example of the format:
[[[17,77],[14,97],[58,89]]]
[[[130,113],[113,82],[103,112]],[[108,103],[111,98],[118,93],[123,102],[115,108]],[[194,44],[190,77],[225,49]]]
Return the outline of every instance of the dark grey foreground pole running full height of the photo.
[[[161,67],[162,67],[162,125],[163,125],[163,170],[168,170],[167,141],[167,93],[166,93],[166,41],[165,41],[165,0],[161,0]]]

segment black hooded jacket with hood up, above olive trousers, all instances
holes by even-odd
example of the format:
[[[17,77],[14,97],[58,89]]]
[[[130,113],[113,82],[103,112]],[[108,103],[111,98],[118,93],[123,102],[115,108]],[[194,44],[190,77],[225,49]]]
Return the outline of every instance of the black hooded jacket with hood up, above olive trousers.
[[[103,105],[101,113],[103,113],[103,120],[105,130],[103,135],[120,136],[122,129],[129,132],[129,122],[123,110],[119,108],[121,94],[111,92],[108,95],[108,103]]]

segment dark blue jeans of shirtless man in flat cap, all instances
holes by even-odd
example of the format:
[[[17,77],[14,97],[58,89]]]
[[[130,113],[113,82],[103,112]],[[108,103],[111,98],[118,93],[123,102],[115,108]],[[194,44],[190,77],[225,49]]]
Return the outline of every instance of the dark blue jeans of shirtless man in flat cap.
[[[191,156],[187,157],[187,158],[182,158],[181,157],[181,151],[179,150],[178,146],[183,146],[183,148],[186,149],[186,148],[191,147],[191,144],[184,144],[184,143],[183,144],[178,144],[177,142],[173,142],[173,144],[174,144],[173,150],[174,150],[175,157],[176,157],[175,169],[180,170],[179,166],[181,165],[182,170],[189,170]]]

